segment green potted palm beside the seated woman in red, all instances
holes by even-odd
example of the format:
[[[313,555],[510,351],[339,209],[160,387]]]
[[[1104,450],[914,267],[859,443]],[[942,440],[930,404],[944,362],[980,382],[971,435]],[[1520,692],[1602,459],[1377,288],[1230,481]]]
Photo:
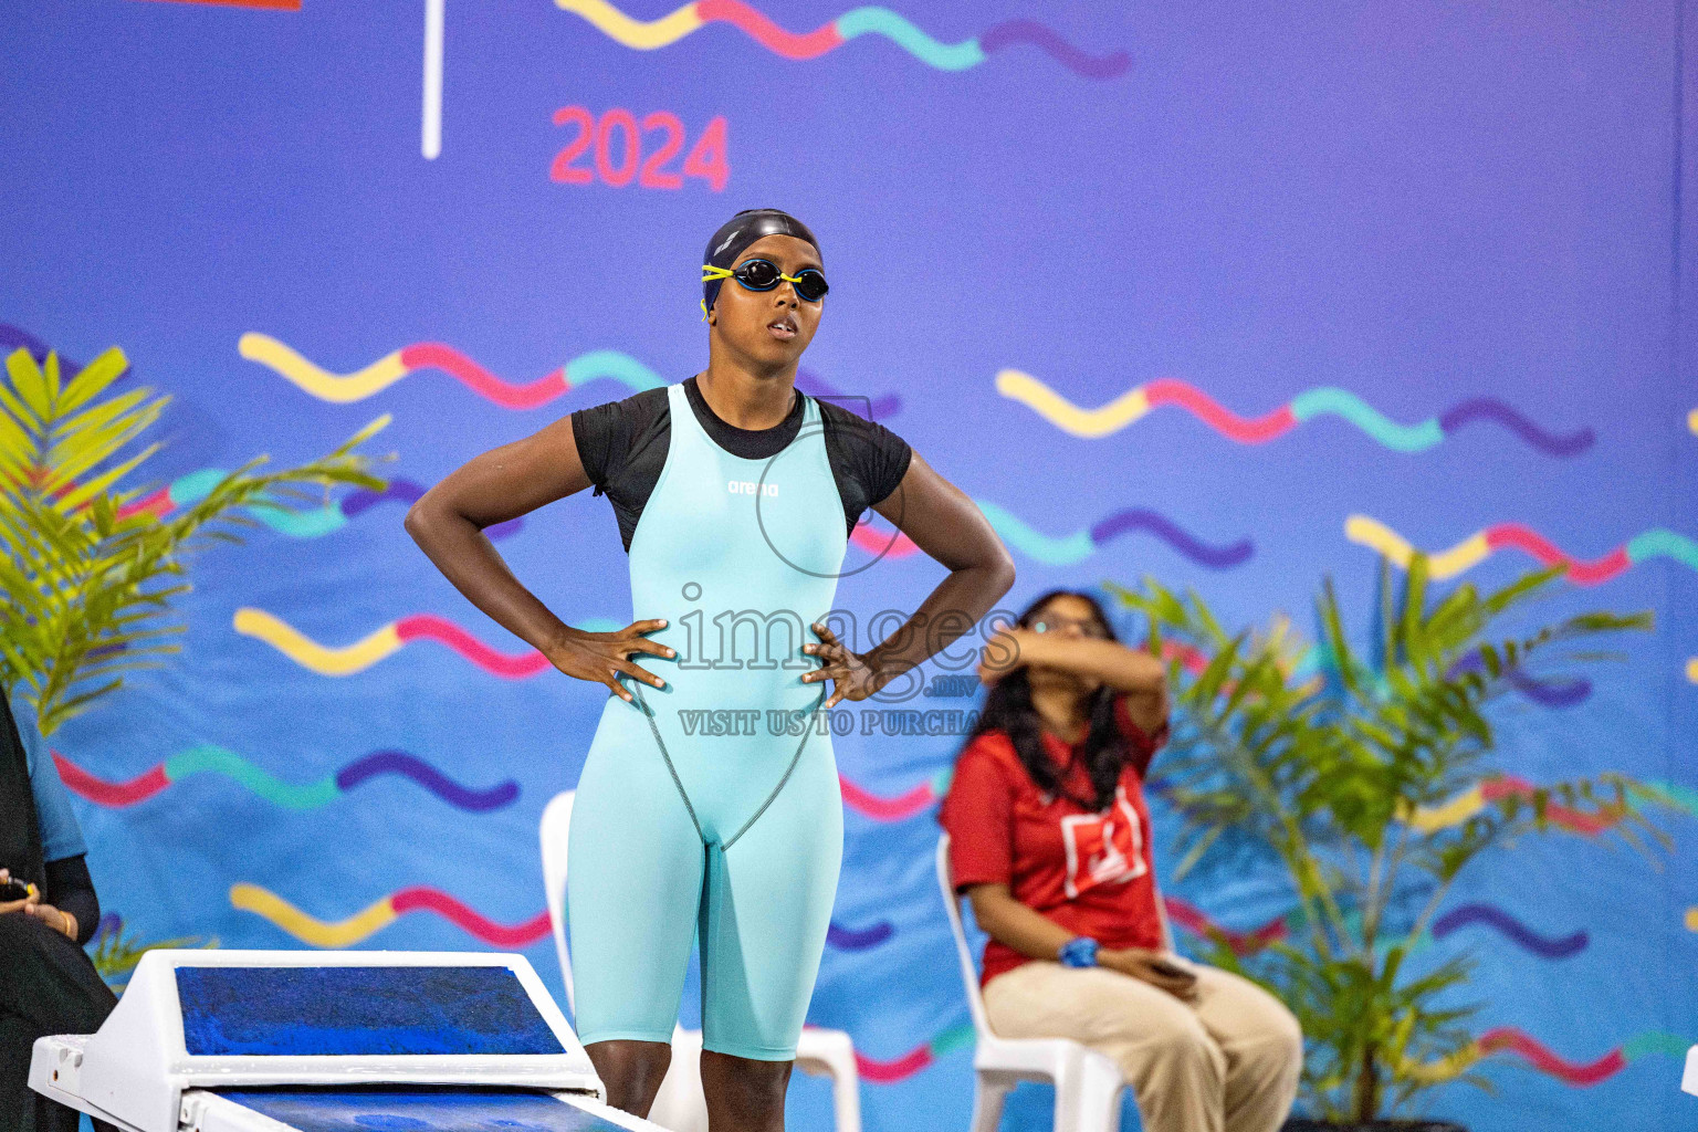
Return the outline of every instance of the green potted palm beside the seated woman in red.
[[[1301,1020],[1311,1117],[1289,1129],[1455,1129],[1392,1117],[1437,1084],[1487,1084],[1476,1066],[1494,1051],[1465,1025],[1479,1008],[1465,1001],[1472,961],[1425,947],[1470,862],[1576,810],[1640,849],[1642,833],[1666,840],[1644,816],[1657,796],[1635,781],[1532,786],[1494,762],[1489,703],[1528,665],[1562,643],[1650,626],[1649,614],[1586,613],[1494,636],[1560,572],[1435,597],[1425,558],[1401,592],[1382,562],[1365,650],[1352,645],[1331,579],[1314,648],[1284,623],[1229,633],[1200,597],[1153,580],[1109,584],[1175,658],[1175,730],[1153,782],[1184,820],[1175,879],[1217,857],[1243,867],[1248,854],[1290,901],[1284,932],[1246,947],[1214,930],[1202,955],[1260,981]]]

